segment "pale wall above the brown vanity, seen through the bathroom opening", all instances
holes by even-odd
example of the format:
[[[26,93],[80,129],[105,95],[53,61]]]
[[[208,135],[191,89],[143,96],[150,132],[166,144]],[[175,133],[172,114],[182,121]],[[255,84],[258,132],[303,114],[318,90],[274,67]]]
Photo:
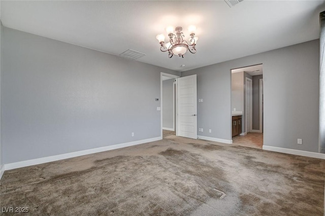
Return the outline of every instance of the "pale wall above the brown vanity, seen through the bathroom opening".
[[[244,112],[244,72],[232,74],[232,111],[234,109]]]

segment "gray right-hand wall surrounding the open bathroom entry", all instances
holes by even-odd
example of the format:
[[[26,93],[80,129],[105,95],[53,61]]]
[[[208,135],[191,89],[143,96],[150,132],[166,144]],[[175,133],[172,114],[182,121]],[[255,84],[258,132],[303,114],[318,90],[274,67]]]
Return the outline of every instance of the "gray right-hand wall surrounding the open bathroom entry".
[[[319,40],[184,71],[182,77],[197,74],[198,98],[204,98],[198,127],[212,129],[200,135],[231,139],[230,70],[261,63],[264,145],[318,152]]]

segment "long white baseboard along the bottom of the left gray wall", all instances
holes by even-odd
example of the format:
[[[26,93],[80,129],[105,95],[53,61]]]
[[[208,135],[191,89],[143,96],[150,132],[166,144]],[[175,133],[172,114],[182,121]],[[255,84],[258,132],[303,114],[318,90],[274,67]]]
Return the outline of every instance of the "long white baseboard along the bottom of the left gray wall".
[[[113,146],[106,146],[106,147],[83,150],[83,151],[79,151],[79,152],[72,152],[72,153],[67,153],[67,154],[62,154],[62,155],[54,155],[54,156],[49,156],[49,157],[45,157],[45,158],[37,158],[37,159],[32,159],[32,160],[27,160],[27,161],[20,161],[20,162],[16,162],[16,163],[9,163],[9,164],[4,165],[4,167],[5,167],[4,170],[10,170],[10,169],[16,169],[16,168],[21,168],[21,167],[25,167],[25,166],[32,166],[32,165],[37,165],[37,164],[42,164],[42,163],[48,163],[48,162],[52,162],[52,161],[58,161],[58,160],[74,158],[74,157],[83,156],[83,155],[105,152],[105,151],[109,151],[109,150],[129,147],[129,146],[136,146],[136,145],[140,145],[142,143],[153,142],[153,141],[157,141],[160,139],[162,139],[161,136],[158,136],[158,137],[149,138],[149,139],[142,139],[142,140],[137,140],[137,141],[132,141],[132,142],[120,143],[120,144],[113,145]]]

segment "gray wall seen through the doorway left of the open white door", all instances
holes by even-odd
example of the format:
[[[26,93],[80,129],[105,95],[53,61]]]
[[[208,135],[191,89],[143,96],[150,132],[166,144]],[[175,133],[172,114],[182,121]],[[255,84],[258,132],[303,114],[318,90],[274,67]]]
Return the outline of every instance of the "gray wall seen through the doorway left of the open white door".
[[[174,128],[173,88],[174,80],[163,81],[163,127]]]

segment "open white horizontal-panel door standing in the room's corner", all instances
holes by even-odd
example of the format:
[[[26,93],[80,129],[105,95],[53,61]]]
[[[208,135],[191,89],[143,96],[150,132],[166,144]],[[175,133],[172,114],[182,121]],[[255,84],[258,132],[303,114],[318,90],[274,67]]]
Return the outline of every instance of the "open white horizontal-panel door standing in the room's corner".
[[[197,139],[197,75],[177,78],[178,136]]]

